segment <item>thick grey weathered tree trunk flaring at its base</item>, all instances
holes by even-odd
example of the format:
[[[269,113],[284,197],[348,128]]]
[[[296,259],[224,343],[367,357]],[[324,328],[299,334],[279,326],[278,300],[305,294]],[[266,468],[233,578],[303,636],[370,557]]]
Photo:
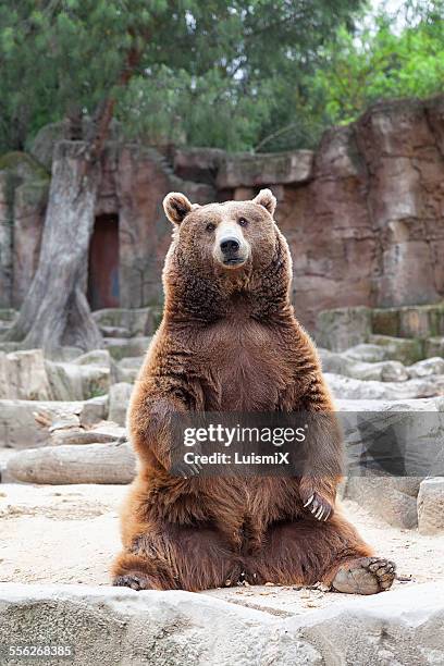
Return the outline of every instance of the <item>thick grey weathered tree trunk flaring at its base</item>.
[[[102,346],[83,288],[99,178],[100,160],[85,169],[85,144],[55,146],[38,268],[7,340],[49,353]]]

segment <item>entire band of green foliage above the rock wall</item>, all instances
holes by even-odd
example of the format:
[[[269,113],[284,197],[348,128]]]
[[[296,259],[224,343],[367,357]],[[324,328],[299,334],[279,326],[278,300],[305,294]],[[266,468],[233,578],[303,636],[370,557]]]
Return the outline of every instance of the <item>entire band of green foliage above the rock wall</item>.
[[[4,0],[0,152],[110,98],[128,138],[268,151],[442,91],[443,0],[369,16],[362,0]]]

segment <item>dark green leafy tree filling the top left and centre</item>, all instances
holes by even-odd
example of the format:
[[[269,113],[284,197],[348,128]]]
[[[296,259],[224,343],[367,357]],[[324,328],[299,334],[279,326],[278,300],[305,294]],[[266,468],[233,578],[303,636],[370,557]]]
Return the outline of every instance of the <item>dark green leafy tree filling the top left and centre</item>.
[[[131,136],[250,148],[282,72],[312,69],[361,0],[4,0],[0,150],[42,125],[116,115]],[[289,82],[293,85],[293,82]]]

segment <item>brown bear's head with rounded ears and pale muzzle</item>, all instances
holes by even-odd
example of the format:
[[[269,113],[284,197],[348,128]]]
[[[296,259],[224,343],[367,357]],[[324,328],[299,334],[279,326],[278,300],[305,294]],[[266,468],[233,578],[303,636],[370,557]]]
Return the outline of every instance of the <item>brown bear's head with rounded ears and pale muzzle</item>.
[[[249,201],[199,206],[185,195],[163,200],[174,225],[163,284],[182,312],[217,319],[239,296],[251,308],[270,312],[288,304],[292,261],[273,219],[276,199],[262,189]]]

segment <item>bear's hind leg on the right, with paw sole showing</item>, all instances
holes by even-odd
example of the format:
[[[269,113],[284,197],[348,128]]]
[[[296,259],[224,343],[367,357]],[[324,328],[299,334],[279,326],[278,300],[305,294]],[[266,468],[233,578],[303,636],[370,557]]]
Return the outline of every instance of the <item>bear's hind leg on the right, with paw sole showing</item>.
[[[395,565],[372,556],[355,528],[335,513],[326,522],[311,516],[270,526],[259,555],[245,562],[250,583],[310,585],[374,594],[391,587]]]

